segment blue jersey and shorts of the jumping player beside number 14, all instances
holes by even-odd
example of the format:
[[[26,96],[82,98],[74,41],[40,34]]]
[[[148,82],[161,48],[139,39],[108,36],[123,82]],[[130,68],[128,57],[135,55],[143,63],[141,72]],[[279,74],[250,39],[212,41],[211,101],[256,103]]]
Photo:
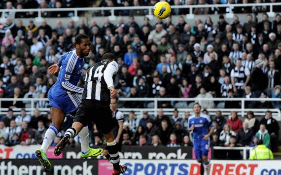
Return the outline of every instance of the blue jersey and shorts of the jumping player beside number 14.
[[[58,79],[48,92],[50,106],[63,110],[66,114],[78,109],[83,88],[77,87],[81,77],[84,59],[79,58],[75,49],[61,56],[57,65],[60,67]]]

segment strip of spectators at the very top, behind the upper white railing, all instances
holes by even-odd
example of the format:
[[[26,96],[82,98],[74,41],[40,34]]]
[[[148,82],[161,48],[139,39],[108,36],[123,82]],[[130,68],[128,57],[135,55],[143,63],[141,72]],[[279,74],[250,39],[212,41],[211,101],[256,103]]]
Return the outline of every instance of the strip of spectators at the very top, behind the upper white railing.
[[[25,9],[25,8],[75,8],[75,7],[116,7],[116,6],[154,6],[159,0],[1,0],[0,9]],[[166,0],[170,5],[208,5],[208,4],[236,4],[236,3],[263,3],[263,2],[278,2],[277,0]],[[242,7],[205,7],[194,8],[194,14],[224,14],[229,12],[234,13],[262,13],[268,12],[269,6],[242,6]],[[281,11],[280,6],[273,6],[273,11]],[[42,17],[72,17],[73,11],[42,11]],[[81,12],[79,12],[81,13]],[[114,15],[148,15],[148,9],[126,9],[114,10]],[[189,14],[189,8],[173,8],[172,15]],[[79,14],[80,15],[80,14]],[[109,16],[111,10],[95,10],[93,16]],[[6,11],[1,14],[1,17],[7,18],[35,18],[37,12],[13,12]]]

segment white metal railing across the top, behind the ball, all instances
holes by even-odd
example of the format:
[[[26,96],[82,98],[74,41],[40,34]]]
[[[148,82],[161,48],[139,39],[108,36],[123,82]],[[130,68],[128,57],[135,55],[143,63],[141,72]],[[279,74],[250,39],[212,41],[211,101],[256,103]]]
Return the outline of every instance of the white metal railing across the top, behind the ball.
[[[273,6],[279,6],[281,2],[274,3],[238,3],[238,4],[204,4],[204,5],[172,5],[173,8],[188,8],[191,17],[193,15],[194,8],[211,8],[211,7],[230,7],[229,14],[233,14],[232,8],[234,7],[246,7],[246,6],[269,6],[268,14],[273,17]],[[31,8],[31,9],[0,9],[0,12],[38,12],[38,17],[41,18],[41,12],[53,12],[53,11],[73,11],[75,19],[78,18],[78,11],[96,11],[96,10],[110,10],[111,16],[115,16],[115,10],[148,10],[148,16],[152,16],[153,6],[127,6],[127,7],[80,7],[80,8]]]

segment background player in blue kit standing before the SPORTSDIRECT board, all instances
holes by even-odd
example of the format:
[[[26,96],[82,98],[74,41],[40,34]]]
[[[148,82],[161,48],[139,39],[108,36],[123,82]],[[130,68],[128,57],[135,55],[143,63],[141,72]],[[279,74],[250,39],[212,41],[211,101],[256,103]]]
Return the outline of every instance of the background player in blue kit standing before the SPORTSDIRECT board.
[[[198,103],[193,105],[194,115],[188,118],[189,131],[192,132],[193,149],[197,162],[203,163],[206,175],[210,174],[210,161],[208,160],[210,136],[214,130],[208,115],[201,113]]]

